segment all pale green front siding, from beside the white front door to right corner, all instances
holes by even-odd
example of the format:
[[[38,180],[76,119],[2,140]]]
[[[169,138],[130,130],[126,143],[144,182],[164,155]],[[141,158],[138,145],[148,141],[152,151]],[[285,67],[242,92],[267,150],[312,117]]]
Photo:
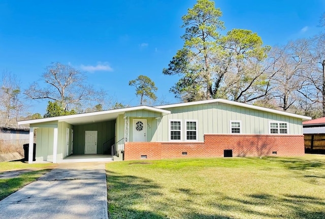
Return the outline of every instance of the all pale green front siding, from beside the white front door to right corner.
[[[133,119],[147,120],[147,141],[169,141],[169,120],[182,120],[182,133],[185,139],[185,120],[198,121],[198,141],[204,141],[204,134],[230,134],[230,121],[240,120],[242,134],[269,134],[270,121],[288,122],[288,134],[302,135],[302,119],[275,113],[227,104],[201,104],[166,108],[171,114],[147,110],[125,112],[117,119],[116,140],[124,137],[124,118],[129,119],[129,140],[133,140]],[[147,111],[147,112],[143,112]],[[160,121],[161,118],[161,121]],[[159,125],[158,125],[159,123]]]

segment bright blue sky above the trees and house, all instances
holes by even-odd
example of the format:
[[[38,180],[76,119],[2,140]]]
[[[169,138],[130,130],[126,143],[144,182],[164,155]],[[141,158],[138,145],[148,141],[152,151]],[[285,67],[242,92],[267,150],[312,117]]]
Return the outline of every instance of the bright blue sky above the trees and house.
[[[15,1],[0,0],[0,72],[9,71],[22,88],[38,80],[46,66],[59,61],[85,71],[89,83],[125,105],[139,105],[128,81],[150,77],[157,97],[179,100],[169,92],[176,76],[163,68],[183,46],[181,17],[194,0]],[[323,0],[218,0],[226,31],[250,29],[265,45],[308,38],[325,12]],[[223,32],[223,33],[225,33]],[[47,101],[29,112],[45,113]]]

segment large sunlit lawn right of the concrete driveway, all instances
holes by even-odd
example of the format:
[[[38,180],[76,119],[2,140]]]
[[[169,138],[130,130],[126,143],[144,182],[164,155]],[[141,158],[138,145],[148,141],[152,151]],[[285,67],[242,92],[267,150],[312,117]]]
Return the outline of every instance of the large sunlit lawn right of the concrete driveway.
[[[325,218],[325,155],[112,162],[110,218]]]

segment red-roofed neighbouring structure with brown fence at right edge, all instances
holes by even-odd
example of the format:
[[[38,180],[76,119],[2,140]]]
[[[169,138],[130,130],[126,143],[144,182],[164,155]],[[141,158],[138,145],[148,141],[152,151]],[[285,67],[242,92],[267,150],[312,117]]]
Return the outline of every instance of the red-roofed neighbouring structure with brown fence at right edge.
[[[325,153],[325,117],[303,122],[305,151]]]

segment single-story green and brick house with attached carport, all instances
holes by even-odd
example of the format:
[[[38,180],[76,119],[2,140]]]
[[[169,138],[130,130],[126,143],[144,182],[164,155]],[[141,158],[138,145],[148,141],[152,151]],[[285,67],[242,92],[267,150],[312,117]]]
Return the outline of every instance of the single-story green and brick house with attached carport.
[[[302,121],[284,111],[223,99],[137,106],[19,121],[36,161],[123,152],[124,160],[304,155]],[[29,147],[32,154],[32,147]],[[29,163],[31,163],[29,155]]]

